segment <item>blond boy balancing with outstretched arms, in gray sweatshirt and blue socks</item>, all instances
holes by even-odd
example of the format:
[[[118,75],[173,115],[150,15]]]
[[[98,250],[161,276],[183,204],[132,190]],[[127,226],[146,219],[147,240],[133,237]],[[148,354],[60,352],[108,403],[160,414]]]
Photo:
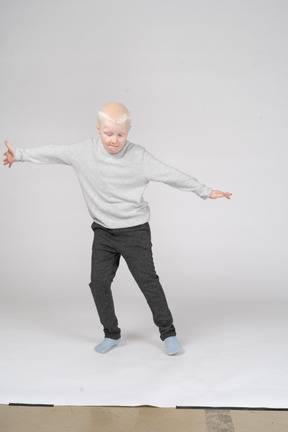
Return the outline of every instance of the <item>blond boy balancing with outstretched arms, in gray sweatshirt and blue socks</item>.
[[[110,102],[98,112],[100,139],[75,145],[48,145],[14,150],[7,141],[4,165],[15,161],[71,165],[80,182],[92,216],[94,241],[90,288],[104,328],[104,340],[95,347],[107,353],[121,337],[111,283],[123,256],[151,309],[168,355],[181,351],[173,318],[156,274],[149,227],[150,211],[143,194],[149,181],[160,181],[203,199],[230,199],[229,192],[215,191],[193,177],[163,164],[143,147],[127,141],[131,128],[128,109]]]

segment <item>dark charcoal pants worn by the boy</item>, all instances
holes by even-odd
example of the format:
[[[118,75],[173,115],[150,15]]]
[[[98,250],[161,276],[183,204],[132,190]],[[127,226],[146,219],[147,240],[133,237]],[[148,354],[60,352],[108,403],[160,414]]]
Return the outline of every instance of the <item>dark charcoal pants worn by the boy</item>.
[[[165,340],[175,336],[173,318],[154,267],[149,224],[108,229],[93,222],[92,229],[94,241],[89,286],[105,337],[119,339],[121,333],[111,291],[121,256],[147,300],[154,323],[159,327],[160,338]]]

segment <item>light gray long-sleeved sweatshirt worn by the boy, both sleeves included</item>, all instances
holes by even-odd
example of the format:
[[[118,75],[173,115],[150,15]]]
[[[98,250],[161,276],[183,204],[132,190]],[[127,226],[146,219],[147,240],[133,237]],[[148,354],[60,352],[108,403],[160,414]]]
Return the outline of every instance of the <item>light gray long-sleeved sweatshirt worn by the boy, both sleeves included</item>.
[[[100,138],[72,145],[16,148],[15,160],[37,164],[71,165],[93,220],[106,228],[127,228],[149,221],[150,209],[143,194],[149,181],[163,182],[177,189],[195,192],[206,199],[212,189],[127,141],[111,154]]]

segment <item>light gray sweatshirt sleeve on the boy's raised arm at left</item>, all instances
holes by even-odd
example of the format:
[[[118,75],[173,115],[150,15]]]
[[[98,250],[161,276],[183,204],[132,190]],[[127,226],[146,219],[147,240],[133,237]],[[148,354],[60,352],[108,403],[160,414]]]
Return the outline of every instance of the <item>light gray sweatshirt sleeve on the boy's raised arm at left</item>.
[[[17,147],[14,150],[14,157],[16,162],[71,165],[79,151],[79,144],[45,145],[29,149]]]

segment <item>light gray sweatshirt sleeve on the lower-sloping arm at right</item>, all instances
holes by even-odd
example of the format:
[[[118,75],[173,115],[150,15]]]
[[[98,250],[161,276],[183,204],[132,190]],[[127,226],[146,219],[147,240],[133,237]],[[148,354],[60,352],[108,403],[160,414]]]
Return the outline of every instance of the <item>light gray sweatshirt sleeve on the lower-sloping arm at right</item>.
[[[143,168],[149,181],[162,182],[183,191],[194,192],[202,199],[209,198],[212,192],[210,187],[196,178],[164,164],[146,150],[143,155]]]

